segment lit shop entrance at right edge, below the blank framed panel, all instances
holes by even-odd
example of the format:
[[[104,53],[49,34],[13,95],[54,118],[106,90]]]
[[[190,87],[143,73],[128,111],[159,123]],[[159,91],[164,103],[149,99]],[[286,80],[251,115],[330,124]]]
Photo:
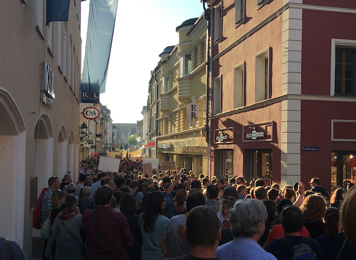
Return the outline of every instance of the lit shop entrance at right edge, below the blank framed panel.
[[[332,187],[346,189],[348,183],[356,183],[356,151],[332,151]]]

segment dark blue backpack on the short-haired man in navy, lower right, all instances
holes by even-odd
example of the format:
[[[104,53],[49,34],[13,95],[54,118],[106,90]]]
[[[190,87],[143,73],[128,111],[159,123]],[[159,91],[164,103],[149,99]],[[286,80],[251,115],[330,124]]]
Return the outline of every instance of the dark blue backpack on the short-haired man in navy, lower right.
[[[283,237],[276,239],[279,243],[291,250],[291,256],[288,260],[317,260],[316,253],[310,248],[311,238],[303,237],[300,244],[294,244],[291,240]]]

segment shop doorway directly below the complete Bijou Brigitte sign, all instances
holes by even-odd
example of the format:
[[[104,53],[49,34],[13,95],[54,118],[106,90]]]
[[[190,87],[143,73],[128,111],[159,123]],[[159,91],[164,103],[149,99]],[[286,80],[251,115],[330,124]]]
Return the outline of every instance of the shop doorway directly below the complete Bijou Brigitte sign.
[[[272,149],[245,150],[245,178],[264,178],[272,183]]]

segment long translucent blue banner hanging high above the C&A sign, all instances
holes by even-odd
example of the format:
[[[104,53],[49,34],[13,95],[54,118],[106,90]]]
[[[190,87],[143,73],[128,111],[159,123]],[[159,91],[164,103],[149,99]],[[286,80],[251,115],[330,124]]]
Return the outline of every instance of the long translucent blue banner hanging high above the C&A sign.
[[[81,89],[104,93],[118,0],[91,0]]]

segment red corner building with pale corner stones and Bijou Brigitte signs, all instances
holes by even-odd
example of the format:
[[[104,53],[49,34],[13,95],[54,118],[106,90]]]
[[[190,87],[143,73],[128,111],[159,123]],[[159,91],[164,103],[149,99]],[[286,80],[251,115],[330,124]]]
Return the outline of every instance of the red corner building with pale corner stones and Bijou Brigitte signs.
[[[212,174],[356,180],[356,2],[207,4]]]

